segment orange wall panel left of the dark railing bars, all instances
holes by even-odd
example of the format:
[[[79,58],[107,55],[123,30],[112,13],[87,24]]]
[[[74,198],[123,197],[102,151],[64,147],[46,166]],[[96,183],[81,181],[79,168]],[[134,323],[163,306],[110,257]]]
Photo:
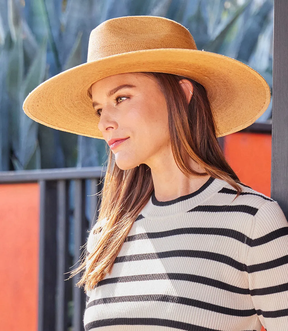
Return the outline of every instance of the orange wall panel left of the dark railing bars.
[[[0,184],[0,329],[36,331],[39,187]]]

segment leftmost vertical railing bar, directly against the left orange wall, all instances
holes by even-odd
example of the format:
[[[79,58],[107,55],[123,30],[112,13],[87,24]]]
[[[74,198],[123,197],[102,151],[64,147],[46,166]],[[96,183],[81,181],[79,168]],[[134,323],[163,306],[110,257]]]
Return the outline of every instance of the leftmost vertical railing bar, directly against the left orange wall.
[[[38,331],[44,331],[45,198],[46,181],[40,180]]]

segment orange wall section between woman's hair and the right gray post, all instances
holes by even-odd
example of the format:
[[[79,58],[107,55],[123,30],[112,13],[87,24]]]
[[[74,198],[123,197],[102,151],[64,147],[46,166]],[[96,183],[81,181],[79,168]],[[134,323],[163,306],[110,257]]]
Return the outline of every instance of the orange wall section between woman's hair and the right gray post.
[[[224,154],[239,179],[270,196],[271,135],[236,132],[225,136]]]

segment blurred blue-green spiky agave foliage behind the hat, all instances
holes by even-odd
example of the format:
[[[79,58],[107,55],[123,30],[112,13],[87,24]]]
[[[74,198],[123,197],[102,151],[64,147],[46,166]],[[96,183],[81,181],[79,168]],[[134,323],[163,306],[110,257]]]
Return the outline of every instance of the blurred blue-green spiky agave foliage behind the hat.
[[[90,31],[127,15],[155,15],[186,26],[198,49],[240,60],[272,88],[272,0],[7,0],[0,2],[0,170],[97,166],[103,140],[28,118],[25,97],[87,58]],[[259,121],[269,120],[271,104]]]

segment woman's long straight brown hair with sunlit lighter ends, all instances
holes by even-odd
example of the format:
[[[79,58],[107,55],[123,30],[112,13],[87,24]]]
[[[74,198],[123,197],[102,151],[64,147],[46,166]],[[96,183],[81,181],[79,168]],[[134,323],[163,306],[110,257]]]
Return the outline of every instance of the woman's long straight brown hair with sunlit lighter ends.
[[[186,175],[211,175],[228,182],[241,193],[239,178],[228,165],[218,144],[213,111],[205,88],[198,82],[179,75],[161,72],[143,72],[158,82],[167,103],[169,133],[172,153],[179,169]],[[189,105],[179,81],[188,79],[193,84],[193,96]],[[205,172],[197,172],[189,165],[192,158]],[[121,170],[115,163],[110,150],[107,169],[101,192],[102,203],[99,220],[105,220],[96,247],[72,276],[82,271],[77,283],[85,291],[93,289],[107,273],[110,273],[128,232],[147,204],[154,189],[151,170],[146,164]]]

